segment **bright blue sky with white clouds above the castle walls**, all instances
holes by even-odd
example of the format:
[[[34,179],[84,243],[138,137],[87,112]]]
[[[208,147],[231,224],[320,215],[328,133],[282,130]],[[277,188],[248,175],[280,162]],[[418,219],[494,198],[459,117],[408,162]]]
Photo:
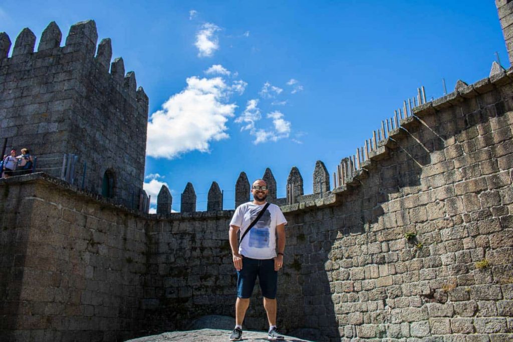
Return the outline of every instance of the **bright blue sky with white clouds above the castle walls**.
[[[167,184],[176,211],[187,182],[205,210],[213,180],[231,209],[239,173],[266,167],[279,196],[292,166],[311,193],[315,161],[332,174],[417,87],[476,82],[496,51],[509,67],[493,1],[0,3],[13,42],[55,21],[64,45],[85,19],[150,98],[145,188]]]

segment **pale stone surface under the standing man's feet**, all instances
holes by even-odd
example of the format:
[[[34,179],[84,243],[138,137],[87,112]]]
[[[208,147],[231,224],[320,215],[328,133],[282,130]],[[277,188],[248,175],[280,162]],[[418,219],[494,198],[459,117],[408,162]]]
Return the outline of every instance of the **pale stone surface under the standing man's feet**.
[[[201,329],[191,331],[174,331],[166,332],[160,335],[146,336],[130,339],[126,342],[167,342],[167,341],[183,341],[183,342],[226,342],[229,341],[231,331],[220,329]],[[269,341],[267,332],[263,331],[244,331],[242,340],[250,341]],[[285,336],[285,341],[289,342],[309,342],[305,339],[297,337]]]

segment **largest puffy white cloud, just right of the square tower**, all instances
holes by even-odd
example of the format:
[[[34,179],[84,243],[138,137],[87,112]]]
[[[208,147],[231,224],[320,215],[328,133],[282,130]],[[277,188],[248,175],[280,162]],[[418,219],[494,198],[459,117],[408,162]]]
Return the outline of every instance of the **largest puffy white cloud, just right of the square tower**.
[[[235,104],[221,77],[187,78],[187,87],[171,96],[148,122],[147,155],[172,159],[182,153],[208,152],[210,143],[226,139],[226,122]]]

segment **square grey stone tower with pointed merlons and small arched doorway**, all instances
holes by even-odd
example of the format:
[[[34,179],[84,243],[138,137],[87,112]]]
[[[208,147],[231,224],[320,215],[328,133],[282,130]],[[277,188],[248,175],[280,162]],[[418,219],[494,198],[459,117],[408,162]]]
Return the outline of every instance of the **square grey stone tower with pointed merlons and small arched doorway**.
[[[141,208],[148,97],[136,90],[133,72],[125,76],[121,58],[109,73],[110,39],[96,49],[97,39],[89,20],[71,26],[61,47],[62,32],[52,22],[37,52],[25,28],[8,57],[11,39],[0,33],[0,138],[8,149],[28,148],[37,167],[55,177],[72,153],[78,158],[71,183]]]

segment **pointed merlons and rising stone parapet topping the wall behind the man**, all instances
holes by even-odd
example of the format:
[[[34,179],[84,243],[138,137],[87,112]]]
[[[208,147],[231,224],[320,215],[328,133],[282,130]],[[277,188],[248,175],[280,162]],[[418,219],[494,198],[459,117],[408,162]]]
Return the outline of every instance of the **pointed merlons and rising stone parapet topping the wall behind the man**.
[[[411,132],[417,130],[420,125],[425,125],[425,123],[423,123],[424,116],[439,112],[448,107],[459,106],[463,100],[467,99],[473,99],[473,101],[478,104],[484,104],[484,100],[477,99],[478,96],[489,92],[494,88],[509,84],[511,83],[512,79],[513,71],[511,69],[506,71],[498,63],[493,62],[490,68],[489,77],[482,79],[481,81],[478,81],[472,85],[468,85],[459,79],[452,93],[432,100],[431,102],[413,107],[409,116],[405,116],[404,118],[398,120],[399,127],[387,130],[386,135],[384,130],[382,138],[377,140],[375,143],[376,146],[368,151],[366,158],[363,158],[362,153],[361,160],[360,158],[353,159],[354,157],[343,158],[341,160],[341,165],[344,166],[345,170],[341,172],[343,182],[339,181],[338,185],[337,182],[335,182],[334,189],[331,189],[330,177],[326,166],[321,160],[318,160],[315,163],[312,175],[312,193],[306,195],[304,194],[303,177],[301,172],[297,167],[292,167],[287,178],[286,196],[278,198],[277,182],[274,178],[274,175],[272,174],[271,169],[267,168],[264,172],[264,175],[262,176],[262,179],[265,180],[269,187],[267,201],[269,203],[274,203],[281,206],[284,212],[312,206],[332,205],[336,203],[337,196],[340,196],[344,193],[349,193],[352,189],[361,186],[363,182],[365,182],[365,179],[369,177],[369,172],[371,172],[371,170],[376,167],[377,163],[379,163],[381,160],[389,158],[393,150],[400,148],[401,140],[407,139],[408,136],[411,135]],[[212,187],[214,187],[214,183],[215,186],[218,186],[216,182],[213,182]],[[213,196],[211,195],[212,187],[208,195],[207,211],[223,210],[222,192],[220,191],[217,196]],[[169,191],[165,185],[162,186],[162,189]],[[193,198],[190,195],[191,193],[194,193]],[[251,185],[249,180],[246,176],[246,173],[241,172],[235,184],[235,207],[238,207],[242,203],[248,202],[250,200],[250,193]],[[195,203],[194,206],[192,206],[191,201],[194,199],[195,202],[196,197],[192,183],[187,184],[186,190],[184,193],[182,193],[182,196],[184,195],[186,198],[188,198],[186,207],[187,210],[182,210],[182,212],[193,212],[194,210],[191,210],[191,208],[195,208]],[[221,207],[214,205],[214,202],[221,203]],[[157,200],[157,206],[158,203],[159,202]],[[160,211],[157,212],[157,214],[169,214],[170,212],[170,210],[168,212]]]

